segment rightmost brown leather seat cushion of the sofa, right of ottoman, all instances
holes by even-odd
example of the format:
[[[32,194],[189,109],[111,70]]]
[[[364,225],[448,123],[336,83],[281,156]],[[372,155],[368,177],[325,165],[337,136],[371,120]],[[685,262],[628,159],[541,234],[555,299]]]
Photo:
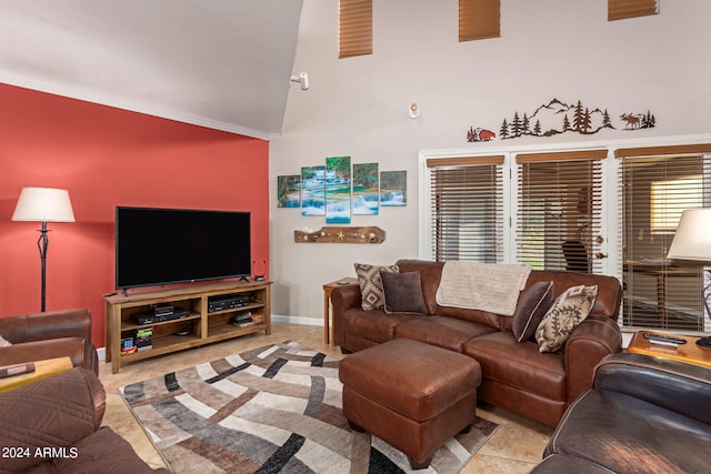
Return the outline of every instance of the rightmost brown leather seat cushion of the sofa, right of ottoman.
[[[484,379],[565,402],[565,361],[560,353],[541,354],[535,342],[517,342],[513,333],[501,331],[467,341],[462,353],[479,361]]]

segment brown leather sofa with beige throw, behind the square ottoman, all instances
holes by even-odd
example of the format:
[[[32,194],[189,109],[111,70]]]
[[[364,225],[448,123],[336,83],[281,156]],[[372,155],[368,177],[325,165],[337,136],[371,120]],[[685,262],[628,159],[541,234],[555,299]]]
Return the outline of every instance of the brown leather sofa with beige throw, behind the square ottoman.
[[[591,314],[558,352],[540,353],[535,341],[517,342],[512,317],[479,310],[440,306],[435,294],[443,263],[400,260],[400,272],[419,272],[429,315],[364,311],[358,284],[333,290],[333,339],[357,352],[394,337],[408,337],[469,355],[481,365],[479,400],[557,426],[565,409],[590,389],[602,357],[620,352],[617,323],[622,289],[612,276],[532,271],[521,295],[537,282],[552,281],[554,296],[574,285],[598,285]]]

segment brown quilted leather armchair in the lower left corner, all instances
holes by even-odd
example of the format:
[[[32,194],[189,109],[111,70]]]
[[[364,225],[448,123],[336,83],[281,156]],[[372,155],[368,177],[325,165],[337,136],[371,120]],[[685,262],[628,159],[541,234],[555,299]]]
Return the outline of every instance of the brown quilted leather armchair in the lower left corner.
[[[104,412],[103,385],[86,369],[0,393],[0,472],[169,473],[101,426]]]

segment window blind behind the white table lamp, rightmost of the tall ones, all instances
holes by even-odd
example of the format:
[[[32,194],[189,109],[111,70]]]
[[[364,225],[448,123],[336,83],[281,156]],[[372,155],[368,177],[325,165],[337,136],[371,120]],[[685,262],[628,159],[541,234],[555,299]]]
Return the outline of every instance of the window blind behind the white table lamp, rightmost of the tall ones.
[[[704,330],[702,268],[678,265],[667,260],[667,252],[681,211],[711,205],[708,153],[711,145],[615,152],[622,183],[623,325]]]

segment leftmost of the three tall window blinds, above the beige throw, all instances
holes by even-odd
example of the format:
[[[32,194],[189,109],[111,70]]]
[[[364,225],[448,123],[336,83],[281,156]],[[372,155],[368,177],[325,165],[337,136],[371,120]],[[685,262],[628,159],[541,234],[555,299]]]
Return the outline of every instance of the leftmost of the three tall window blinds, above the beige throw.
[[[431,255],[503,261],[503,155],[430,159]]]

